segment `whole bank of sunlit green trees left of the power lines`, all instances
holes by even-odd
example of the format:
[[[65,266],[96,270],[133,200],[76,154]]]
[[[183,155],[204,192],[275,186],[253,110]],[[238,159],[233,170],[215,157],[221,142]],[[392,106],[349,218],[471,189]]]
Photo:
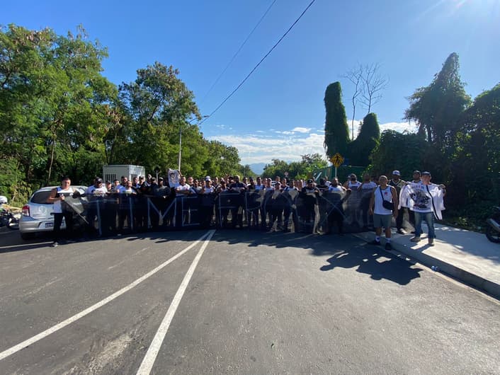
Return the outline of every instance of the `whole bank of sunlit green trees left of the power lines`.
[[[237,149],[203,138],[194,96],[178,70],[156,62],[116,87],[106,48],[83,30],[0,29],[0,194],[23,202],[62,175],[89,184],[103,164],[186,175],[242,173]],[[247,168],[249,171],[249,168]]]

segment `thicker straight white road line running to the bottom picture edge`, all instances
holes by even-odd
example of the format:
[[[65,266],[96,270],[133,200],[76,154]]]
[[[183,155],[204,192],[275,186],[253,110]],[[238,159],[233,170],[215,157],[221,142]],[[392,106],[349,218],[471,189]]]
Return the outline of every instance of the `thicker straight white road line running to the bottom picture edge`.
[[[184,279],[181,282],[181,286],[178,288],[176,295],[174,296],[174,299],[172,300],[169,310],[166,311],[166,315],[163,318],[163,321],[161,321],[161,324],[158,328],[157,334],[154,335],[154,338],[151,342],[151,345],[149,345],[149,349],[147,350],[146,355],[144,356],[144,359],[142,359],[142,363],[140,368],[137,370],[137,374],[140,375],[149,375],[153,368],[154,361],[157,359],[158,352],[161,347],[161,343],[163,342],[166,332],[169,330],[170,323],[172,319],[174,318],[174,315],[177,311],[177,308],[179,304],[181,303],[182,296],[184,295],[184,292],[186,292],[186,289],[188,287],[188,284],[191,280],[191,277],[193,276],[193,273],[195,272],[195,268],[198,265],[198,262],[201,259],[201,256],[203,255],[203,252],[205,251],[205,248],[207,248],[208,243],[210,242],[210,239],[212,238],[213,234],[215,233],[214,230],[210,231],[211,233],[208,235],[208,237],[205,239],[205,242],[203,243],[203,246],[201,246],[200,251],[198,251],[198,254],[196,255],[196,258],[193,260],[193,263],[191,263],[191,266],[189,267],[188,272],[186,272],[186,276],[184,276]]]

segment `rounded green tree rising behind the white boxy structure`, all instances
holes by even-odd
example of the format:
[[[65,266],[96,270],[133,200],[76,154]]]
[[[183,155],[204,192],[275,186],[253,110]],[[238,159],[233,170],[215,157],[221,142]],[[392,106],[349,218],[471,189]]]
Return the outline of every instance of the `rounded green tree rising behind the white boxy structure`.
[[[164,171],[177,166],[182,132],[181,171],[202,175],[208,148],[193,119],[200,120],[194,96],[179,71],[159,62],[137,70],[137,79],[120,85],[115,131],[106,139],[113,160]],[[120,113],[122,115],[120,115]],[[116,146],[119,145],[118,150]]]

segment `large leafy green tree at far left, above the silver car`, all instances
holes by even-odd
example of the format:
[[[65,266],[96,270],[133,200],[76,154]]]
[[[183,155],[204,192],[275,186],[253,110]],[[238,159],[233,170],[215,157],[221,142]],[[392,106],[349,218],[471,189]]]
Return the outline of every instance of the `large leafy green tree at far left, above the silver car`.
[[[82,171],[81,156],[102,153],[106,107],[116,95],[101,75],[106,56],[81,27],[67,36],[1,28],[0,156],[18,161],[25,180],[50,184],[59,178],[54,170]]]

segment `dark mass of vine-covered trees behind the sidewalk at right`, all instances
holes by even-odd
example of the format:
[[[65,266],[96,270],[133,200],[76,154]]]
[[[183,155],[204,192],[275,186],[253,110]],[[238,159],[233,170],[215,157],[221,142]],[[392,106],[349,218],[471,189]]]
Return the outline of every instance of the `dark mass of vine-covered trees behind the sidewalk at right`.
[[[500,84],[471,103],[458,69],[458,55],[450,54],[431,84],[409,97],[406,117],[418,134],[382,133],[370,170],[431,171],[434,182],[448,185],[448,214],[470,226],[500,202]]]

